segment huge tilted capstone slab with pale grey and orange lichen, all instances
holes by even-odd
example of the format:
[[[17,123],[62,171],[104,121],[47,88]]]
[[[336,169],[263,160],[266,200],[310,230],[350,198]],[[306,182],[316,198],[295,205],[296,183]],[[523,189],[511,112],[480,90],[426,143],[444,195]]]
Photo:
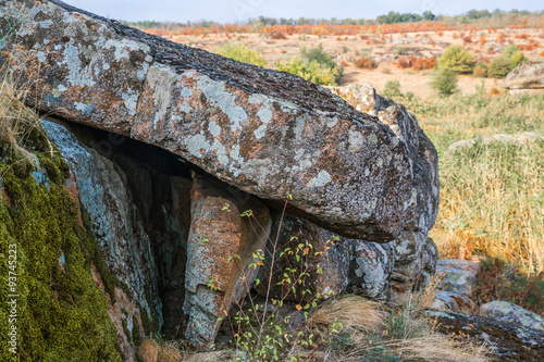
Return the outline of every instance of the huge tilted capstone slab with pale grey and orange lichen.
[[[0,22],[15,26],[0,59],[30,86],[29,105],[164,148],[260,198],[292,195],[290,213],[347,237],[388,241],[434,222],[434,149],[385,99],[382,123],[294,75],[57,0],[3,1],[0,12],[15,20]],[[407,224],[407,212],[419,217]]]

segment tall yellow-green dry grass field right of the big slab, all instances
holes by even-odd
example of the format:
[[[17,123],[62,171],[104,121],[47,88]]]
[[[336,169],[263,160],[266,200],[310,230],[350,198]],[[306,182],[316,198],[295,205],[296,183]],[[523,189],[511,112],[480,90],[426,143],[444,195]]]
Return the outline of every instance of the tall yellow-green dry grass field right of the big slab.
[[[496,134],[544,135],[544,96],[403,99],[438,151],[441,204],[430,235],[441,257],[497,258],[544,271],[544,142],[455,141]]]

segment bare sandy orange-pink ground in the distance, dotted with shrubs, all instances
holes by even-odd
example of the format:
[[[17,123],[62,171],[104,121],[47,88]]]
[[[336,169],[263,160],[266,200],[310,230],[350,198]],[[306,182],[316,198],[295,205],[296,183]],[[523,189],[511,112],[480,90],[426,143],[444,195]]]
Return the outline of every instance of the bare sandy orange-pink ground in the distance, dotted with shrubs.
[[[262,53],[269,66],[276,61],[287,61],[299,53],[301,47],[316,47],[319,43],[325,51],[333,54],[338,64],[345,64],[344,77],[341,85],[368,82],[379,91],[387,80],[399,80],[403,92],[412,92],[416,96],[428,98],[434,93],[429,86],[429,71],[412,71],[399,68],[395,62],[400,55],[416,58],[440,57],[442,52],[454,43],[463,45],[478,58],[492,59],[500,54],[509,42],[516,45],[533,43],[533,49],[524,50],[530,60],[544,61],[540,55],[544,51],[544,29],[497,29],[475,32],[426,32],[391,35],[360,36],[317,36],[317,35],[287,35],[286,39],[274,40],[268,35],[259,34],[212,34],[203,36],[170,36],[170,40],[191,47],[214,51],[225,41],[231,43],[245,42],[252,50]],[[463,37],[470,37],[471,42],[463,42]],[[504,38],[503,41],[500,38]],[[484,39],[484,41],[482,41]],[[536,46],[535,42],[537,42]],[[361,70],[353,62],[360,57],[371,57],[379,66],[374,70]],[[485,89],[500,88],[503,80],[493,78],[483,79]],[[482,78],[459,76],[459,89],[463,93],[475,92]]]

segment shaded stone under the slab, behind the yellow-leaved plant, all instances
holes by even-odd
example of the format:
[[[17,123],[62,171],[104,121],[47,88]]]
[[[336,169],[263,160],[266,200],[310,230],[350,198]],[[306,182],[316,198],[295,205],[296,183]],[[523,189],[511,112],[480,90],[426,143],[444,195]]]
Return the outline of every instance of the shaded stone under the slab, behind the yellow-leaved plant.
[[[345,238],[289,214],[282,217],[280,212],[274,212],[272,219],[267,262],[258,286],[260,292],[265,296],[270,280],[273,298],[295,303],[324,301],[343,294],[349,269],[349,244]],[[305,275],[300,276],[301,273]]]

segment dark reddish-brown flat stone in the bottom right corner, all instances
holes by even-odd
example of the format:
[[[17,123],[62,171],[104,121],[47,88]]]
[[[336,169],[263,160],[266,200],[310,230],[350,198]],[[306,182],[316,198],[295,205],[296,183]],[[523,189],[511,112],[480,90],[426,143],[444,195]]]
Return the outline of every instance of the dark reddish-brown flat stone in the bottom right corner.
[[[492,361],[542,361],[544,355],[542,330],[479,315],[438,311],[426,314],[436,320],[441,333],[485,344],[496,353]]]

